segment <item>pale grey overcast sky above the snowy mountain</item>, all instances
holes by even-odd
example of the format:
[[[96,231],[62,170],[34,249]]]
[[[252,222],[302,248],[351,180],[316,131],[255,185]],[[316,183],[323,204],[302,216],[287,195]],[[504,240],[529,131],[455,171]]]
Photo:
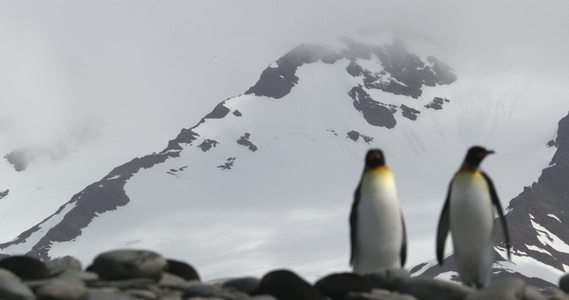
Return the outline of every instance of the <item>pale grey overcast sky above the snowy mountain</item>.
[[[298,44],[342,35],[420,37],[459,78],[567,90],[569,2],[496,2],[4,1],[0,156],[91,141],[99,169],[83,171],[102,177],[162,150]]]

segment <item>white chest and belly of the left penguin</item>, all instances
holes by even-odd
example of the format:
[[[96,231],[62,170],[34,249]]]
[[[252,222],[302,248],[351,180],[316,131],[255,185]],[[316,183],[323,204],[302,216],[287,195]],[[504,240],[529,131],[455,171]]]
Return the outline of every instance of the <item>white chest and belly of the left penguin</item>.
[[[366,173],[357,215],[354,271],[369,273],[399,267],[403,224],[395,180],[389,169]]]

